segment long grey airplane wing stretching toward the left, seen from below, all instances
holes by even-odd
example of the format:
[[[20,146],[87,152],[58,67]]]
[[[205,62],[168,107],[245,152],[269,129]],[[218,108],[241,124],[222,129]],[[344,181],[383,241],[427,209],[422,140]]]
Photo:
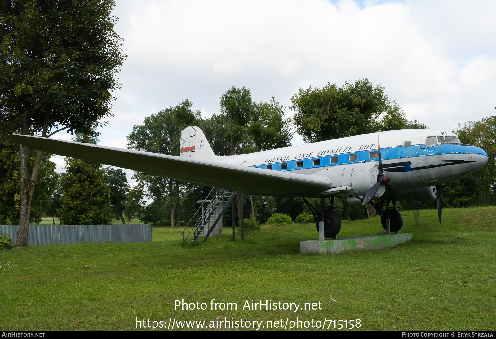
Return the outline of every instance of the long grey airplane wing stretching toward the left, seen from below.
[[[228,188],[253,195],[315,196],[331,186],[326,178],[270,169],[258,169],[194,160],[29,135],[10,134],[14,142],[31,149],[105,165],[167,176],[199,185]]]

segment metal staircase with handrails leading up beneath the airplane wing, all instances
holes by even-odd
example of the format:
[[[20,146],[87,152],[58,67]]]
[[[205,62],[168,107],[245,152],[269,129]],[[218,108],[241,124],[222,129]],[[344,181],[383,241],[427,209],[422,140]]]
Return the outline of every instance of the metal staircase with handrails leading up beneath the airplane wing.
[[[181,234],[183,235],[183,243],[187,240],[189,235],[192,234],[189,245],[194,243],[203,243],[210,233],[212,233],[217,223],[221,220],[222,215],[226,212],[227,207],[233,201],[236,191],[230,191],[228,189],[217,189],[212,188],[210,193],[208,193],[207,198],[205,198],[193,218],[187,223]],[[208,197],[211,197],[209,200]],[[193,228],[185,236],[186,228],[193,225],[193,219],[196,218],[196,223],[194,223]]]

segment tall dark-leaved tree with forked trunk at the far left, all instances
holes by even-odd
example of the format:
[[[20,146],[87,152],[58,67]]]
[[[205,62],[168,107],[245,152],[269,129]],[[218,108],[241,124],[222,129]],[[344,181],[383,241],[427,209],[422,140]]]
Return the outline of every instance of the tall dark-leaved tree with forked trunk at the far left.
[[[0,118],[3,132],[50,137],[84,132],[111,116],[125,55],[113,0],[1,0]],[[29,169],[20,146],[20,217],[15,247],[27,246],[43,152]]]

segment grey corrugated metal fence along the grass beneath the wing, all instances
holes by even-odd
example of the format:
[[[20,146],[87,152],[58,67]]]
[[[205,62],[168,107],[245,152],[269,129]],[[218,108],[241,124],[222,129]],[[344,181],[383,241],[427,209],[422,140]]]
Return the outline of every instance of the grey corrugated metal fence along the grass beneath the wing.
[[[0,225],[0,230],[14,241],[18,225]],[[152,241],[150,225],[30,225],[28,245],[42,246],[76,242],[143,242]]]

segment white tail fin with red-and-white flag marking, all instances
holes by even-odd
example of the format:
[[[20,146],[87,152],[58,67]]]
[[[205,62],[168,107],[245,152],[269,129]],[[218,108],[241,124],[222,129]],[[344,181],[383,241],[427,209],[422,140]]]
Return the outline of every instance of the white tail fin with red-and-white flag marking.
[[[215,160],[217,156],[198,126],[189,126],[181,131],[181,157],[198,160]]]

